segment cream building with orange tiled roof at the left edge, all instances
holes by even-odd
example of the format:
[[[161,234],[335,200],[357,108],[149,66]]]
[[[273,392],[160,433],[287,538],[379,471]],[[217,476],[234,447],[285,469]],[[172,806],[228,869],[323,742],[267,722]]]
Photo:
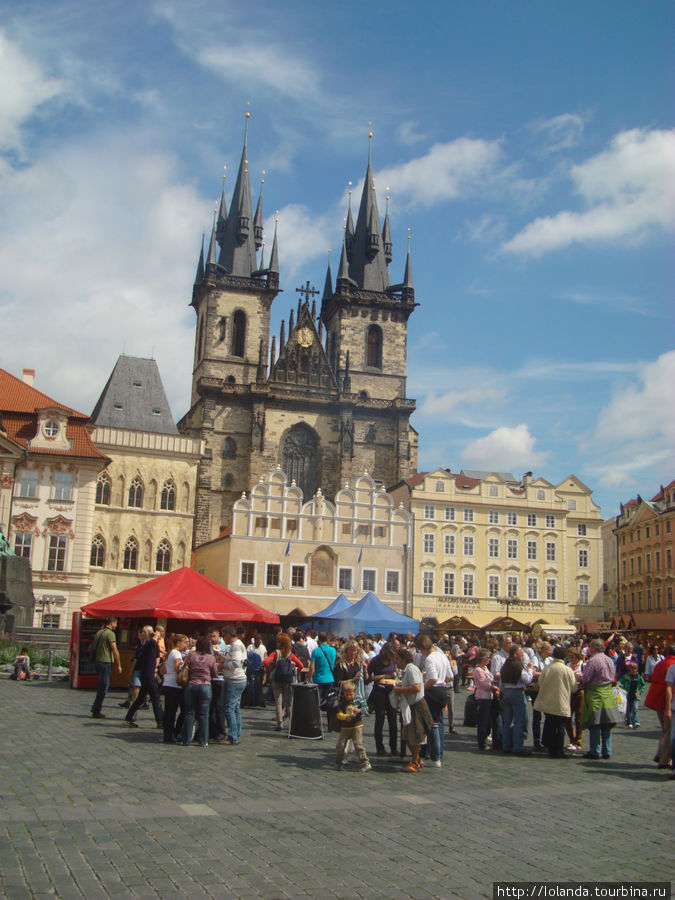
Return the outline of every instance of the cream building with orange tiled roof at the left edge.
[[[69,628],[90,598],[94,495],[108,463],[89,418],[0,369],[0,509],[17,556],[30,563],[33,624]],[[18,451],[18,453],[17,453]]]

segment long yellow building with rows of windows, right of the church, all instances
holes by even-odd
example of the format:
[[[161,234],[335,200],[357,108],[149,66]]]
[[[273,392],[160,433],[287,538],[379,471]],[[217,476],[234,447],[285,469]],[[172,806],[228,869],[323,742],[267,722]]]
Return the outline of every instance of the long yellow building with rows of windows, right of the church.
[[[510,473],[447,469],[390,489],[414,519],[413,612],[500,615],[573,631],[602,605],[600,509],[570,475],[558,485]],[[544,626],[545,627],[545,626]]]

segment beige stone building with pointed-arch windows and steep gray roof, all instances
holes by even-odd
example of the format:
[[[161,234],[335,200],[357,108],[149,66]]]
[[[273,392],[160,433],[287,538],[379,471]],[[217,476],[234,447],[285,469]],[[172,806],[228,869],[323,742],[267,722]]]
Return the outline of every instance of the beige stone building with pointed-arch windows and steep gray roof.
[[[154,359],[120,356],[94,411],[91,599],[190,564],[201,442],[178,433]]]

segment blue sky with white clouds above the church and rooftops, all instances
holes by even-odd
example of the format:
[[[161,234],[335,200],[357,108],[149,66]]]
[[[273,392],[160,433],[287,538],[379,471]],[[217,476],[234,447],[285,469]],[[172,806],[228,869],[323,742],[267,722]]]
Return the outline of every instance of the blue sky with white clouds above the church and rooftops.
[[[573,473],[606,517],[651,497],[675,477],[674,19],[661,0],[0,0],[0,367],[89,413],[121,353],[154,357],[178,420],[245,113],[275,332],[330,250],[337,271],[372,131],[391,281],[409,243],[419,303],[420,470]]]

